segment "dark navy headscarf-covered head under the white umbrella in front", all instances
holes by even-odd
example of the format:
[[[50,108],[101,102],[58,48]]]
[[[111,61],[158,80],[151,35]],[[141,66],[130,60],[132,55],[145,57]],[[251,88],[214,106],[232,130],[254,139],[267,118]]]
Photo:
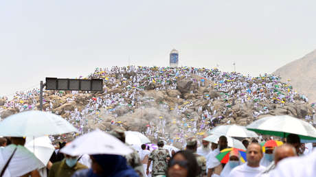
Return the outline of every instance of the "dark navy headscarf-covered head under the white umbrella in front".
[[[112,176],[120,168],[126,167],[126,158],[119,155],[96,154],[91,155],[91,169],[93,174]]]

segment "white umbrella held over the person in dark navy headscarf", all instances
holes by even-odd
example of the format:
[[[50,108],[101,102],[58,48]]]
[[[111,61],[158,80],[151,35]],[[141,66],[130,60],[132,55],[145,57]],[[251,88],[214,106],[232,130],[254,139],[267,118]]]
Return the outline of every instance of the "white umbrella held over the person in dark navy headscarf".
[[[133,150],[111,134],[97,129],[71,141],[60,152],[71,156],[79,156],[81,154],[127,155],[131,154]]]

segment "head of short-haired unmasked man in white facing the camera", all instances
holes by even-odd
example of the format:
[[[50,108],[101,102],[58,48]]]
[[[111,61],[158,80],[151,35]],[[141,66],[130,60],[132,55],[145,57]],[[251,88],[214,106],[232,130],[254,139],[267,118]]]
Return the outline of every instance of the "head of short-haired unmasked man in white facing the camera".
[[[247,165],[249,167],[259,167],[263,156],[262,148],[259,143],[250,143],[247,148]]]

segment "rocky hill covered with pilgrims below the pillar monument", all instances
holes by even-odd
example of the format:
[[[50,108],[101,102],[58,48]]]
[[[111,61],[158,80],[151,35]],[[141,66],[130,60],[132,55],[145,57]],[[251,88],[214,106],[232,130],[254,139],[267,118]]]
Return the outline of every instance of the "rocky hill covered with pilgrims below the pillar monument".
[[[164,137],[176,145],[222,124],[245,126],[268,115],[292,115],[312,121],[315,110],[293,87],[275,75],[251,78],[218,69],[113,67],[95,69],[104,92],[45,91],[44,110],[61,115],[80,134],[117,126]],[[38,90],[0,99],[2,119],[39,107]],[[66,134],[59,139],[76,137]]]

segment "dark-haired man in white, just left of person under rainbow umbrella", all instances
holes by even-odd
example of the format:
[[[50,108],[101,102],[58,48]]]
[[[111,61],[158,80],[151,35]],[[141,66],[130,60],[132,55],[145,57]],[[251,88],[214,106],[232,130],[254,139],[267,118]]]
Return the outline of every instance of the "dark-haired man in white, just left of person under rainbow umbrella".
[[[214,169],[216,170],[216,174],[221,174],[221,169],[223,169],[223,166],[221,165],[221,162],[218,161],[216,156],[221,152],[221,150],[224,150],[227,148],[227,138],[225,136],[221,136],[218,139],[218,148],[212,152],[210,152],[206,167],[207,167],[207,177],[211,177],[212,174],[214,173]]]

